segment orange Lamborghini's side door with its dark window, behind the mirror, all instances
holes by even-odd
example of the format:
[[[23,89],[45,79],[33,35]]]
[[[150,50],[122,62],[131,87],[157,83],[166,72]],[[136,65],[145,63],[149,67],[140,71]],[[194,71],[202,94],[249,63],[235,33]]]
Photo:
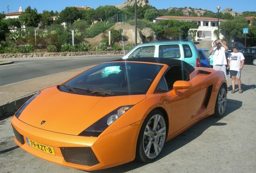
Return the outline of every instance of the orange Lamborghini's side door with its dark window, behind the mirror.
[[[169,100],[171,101],[170,132],[172,134],[200,117],[200,110],[206,89],[204,82],[198,82],[194,78],[189,80],[189,74],[186,72],[186,69],[180,66],[170,68],[165,73],[165,80],[169,89]],[[181,89],[177,95],[173,90],[173,84],[177,80],[191,82],[192,88]]]

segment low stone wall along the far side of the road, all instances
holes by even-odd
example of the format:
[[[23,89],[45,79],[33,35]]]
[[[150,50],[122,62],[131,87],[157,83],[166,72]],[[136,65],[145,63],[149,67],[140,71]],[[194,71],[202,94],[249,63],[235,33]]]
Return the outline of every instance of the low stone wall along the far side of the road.
[[[87,51],[87,52],[46,52],[46,53],[19,53],[19,54],[0,54],[0,59],[3,58],[31,58],[31,57],[58,57],[58,56],[83,56],[83,55],[111,55],[111,54],[126,54],[128,51]]]

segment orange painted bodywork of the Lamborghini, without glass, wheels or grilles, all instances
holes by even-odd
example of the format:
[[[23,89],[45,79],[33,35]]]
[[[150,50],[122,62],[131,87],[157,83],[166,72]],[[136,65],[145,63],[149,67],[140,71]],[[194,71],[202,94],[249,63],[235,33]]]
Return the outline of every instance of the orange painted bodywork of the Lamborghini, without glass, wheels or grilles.
[[[205,68],[195,68],[195,71],[190,74],[190,83],[185,89],[155,94],[158,81],[167,68],[167,65],[163,65],[146,95],[93,97],[60,92],[56,87],[47,88],[41,91],[40,95],[23,111],[22,114],[26,116],[21,115],[19,119],[14,116],[11,123],[24,138],[54,147],[56,155],[34,149],[27,144],[26,140],[23,145],[17,141],[16,137],[14,141],[25,151],[37,157],[87,171],[133,161],[138,133],[143,121],[153,109],[161,109],[165,113],[168,128],[166,140],[168,141],[204,117],[212,115],[219,87],[223,83],[226,84],[225,77],[223,79],[220,72],[209,68],[207,70],[209,74],[200,74],[199,70],[205,70]],[[176,81],[174,85],[179,86],[182,83]],[[205,107],[206,93],[211,85],[213,85],[213,91],[209,106]],[[188,103],[189,106],[187,106]],[[102,115],[123,105],[134,106],[98,137],[78,136]],[[50,109],[43,109],[44,107]],[[43,120],[47,123],[41,125]],[[60,151],[61,147],[91,147],[99,164],[83,166],[67,163]]]

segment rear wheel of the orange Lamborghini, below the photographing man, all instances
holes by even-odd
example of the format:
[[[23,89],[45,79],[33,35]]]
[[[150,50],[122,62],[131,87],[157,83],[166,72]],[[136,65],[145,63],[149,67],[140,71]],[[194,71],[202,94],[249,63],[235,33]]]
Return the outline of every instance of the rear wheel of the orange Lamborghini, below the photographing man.
[[[220,118],[223,116],[227,104],[227,89],[222,85],[219,89],[216,103],[214,116]]]

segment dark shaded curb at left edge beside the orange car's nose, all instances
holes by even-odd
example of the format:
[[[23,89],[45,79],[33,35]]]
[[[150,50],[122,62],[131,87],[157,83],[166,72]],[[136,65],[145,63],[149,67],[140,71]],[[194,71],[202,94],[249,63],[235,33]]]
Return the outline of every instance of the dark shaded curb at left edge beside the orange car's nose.
[[[37,93],[37,92],[35,92]],[[10,101],[4,105],[0,105],[0,120],[5,119],[7,117],[10,117],[14,115],[16,111],[26,102],[28,101],[35,93],[31,93],[28,95],[25,95],[23,97],[20,97],[18,99],[15,99],[13,101]]]

